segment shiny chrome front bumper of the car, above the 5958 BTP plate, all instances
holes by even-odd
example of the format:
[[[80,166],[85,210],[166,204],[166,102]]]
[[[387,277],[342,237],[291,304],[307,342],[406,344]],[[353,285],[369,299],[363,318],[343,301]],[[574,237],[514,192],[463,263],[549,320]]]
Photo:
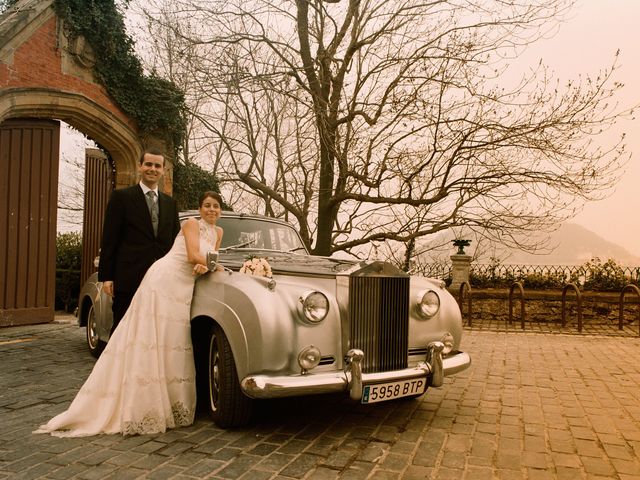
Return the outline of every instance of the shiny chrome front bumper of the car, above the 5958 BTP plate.
[[[342,372],[295,376],[249,375],[240,382],[240,386],[251,398],[296,397],[348,391],[353,400],[362,398],[363,386],[368,384],[428,378],[428,386],[440,387],[444,377],[461,372],[471,365],[471,358],[464,352],[452,353],[443,358],[443,348],[441,342],[433,342],[429,344],[426,360],[419,362],[415,367],[377,373],[362,373],[364,353],[354,349],[347,352],[347,361]]]

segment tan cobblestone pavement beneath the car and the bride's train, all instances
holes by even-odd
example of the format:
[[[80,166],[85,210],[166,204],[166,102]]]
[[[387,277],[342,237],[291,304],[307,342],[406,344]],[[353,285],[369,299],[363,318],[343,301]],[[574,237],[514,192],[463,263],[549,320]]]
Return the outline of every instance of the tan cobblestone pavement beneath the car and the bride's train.
[[[465,332],[473,365],[418,400],[261,404],[256,422],[204,415],[161,435],[31,433],[93,359],[72,323],[0,329],[0,478],[640,479],[640,339]]]

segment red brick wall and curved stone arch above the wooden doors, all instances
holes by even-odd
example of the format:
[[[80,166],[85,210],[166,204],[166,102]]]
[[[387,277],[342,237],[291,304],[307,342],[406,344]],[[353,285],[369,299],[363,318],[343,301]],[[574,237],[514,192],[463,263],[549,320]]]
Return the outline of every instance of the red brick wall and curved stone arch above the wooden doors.
[[[96,80],[94,63],[88,44],[68,37],[53,0],[19,0],[0,16],[0,122],[65,121],[109,151],[117,186],[130,185],[143,139]]]

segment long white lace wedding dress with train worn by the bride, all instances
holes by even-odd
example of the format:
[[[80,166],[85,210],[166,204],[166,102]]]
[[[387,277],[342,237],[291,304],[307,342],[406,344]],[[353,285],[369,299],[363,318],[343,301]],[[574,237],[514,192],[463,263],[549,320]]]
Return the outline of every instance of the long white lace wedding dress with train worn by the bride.
[[[204,220],[199,224],[200,251],[206,255],[215,249],[216,231]],[[180,232],[169,253],[147,271],[69,409],[34,433],[151,434],[193,423],[192,270]]]

